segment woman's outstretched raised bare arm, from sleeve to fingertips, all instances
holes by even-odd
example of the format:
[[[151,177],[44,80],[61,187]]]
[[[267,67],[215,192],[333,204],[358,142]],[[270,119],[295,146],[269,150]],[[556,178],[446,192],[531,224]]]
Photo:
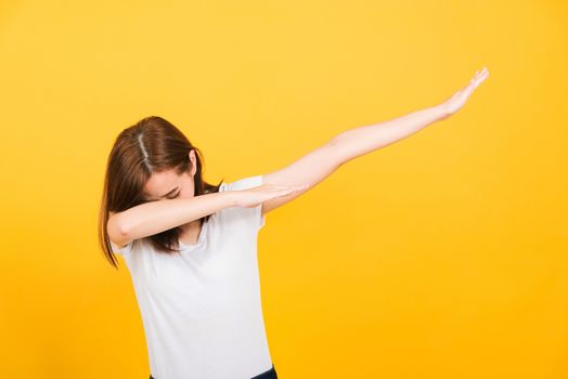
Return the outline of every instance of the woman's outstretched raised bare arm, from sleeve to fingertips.
[[[483,67],[469,83],[439,105],[421,109],[380,123],[347,130],[289,166],[263,175],[275,185],[309,184],[306,190],[262,202],[262,214],[292,201],[313,188],[345,162],[400,141],[428,125],[448,118],[461,109],[473,91],[488,77]]]

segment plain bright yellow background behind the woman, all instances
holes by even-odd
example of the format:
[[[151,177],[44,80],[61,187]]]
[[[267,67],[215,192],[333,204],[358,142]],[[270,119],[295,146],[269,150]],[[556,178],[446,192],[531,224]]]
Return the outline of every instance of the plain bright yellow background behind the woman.
[[[96,243],[124,128],[165,117],[234,181],[487,66],[452,118],[267,214],[271,355],[283,379],[568,378],[567,22],[537,0],[0,2],[2,376],[149,376]]]

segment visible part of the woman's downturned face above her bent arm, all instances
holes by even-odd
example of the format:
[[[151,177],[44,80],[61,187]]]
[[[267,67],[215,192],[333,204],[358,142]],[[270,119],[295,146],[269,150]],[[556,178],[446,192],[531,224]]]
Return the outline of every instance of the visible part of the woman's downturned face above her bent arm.
[[[153,173],[144,185],[143,194],[147,201],[172,198],[190,198],[195,195],[193,177],[196,171],[195,152],[189,153],[192,161],[191,172],[178,175],[175,170]]]

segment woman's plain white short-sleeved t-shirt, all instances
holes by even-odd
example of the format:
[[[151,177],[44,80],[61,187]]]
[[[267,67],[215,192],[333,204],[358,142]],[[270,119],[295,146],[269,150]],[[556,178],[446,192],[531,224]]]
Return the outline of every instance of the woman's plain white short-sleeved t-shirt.
[[[222,183],[219,192],[262,184],[262,175]],[[257,261],[261,206],[212,213],[181,256],[144,239],[114,251],[130,271],[156,379],[249,379],[272,367]]]

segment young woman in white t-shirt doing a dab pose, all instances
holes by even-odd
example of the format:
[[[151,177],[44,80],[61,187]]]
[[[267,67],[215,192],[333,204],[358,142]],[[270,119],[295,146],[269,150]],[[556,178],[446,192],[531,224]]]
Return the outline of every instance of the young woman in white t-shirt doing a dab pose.
[[[144,326],[151,378],[277,378],[264,332],[257,234],[264,217],[345,162],[461,109],[477,71],[444,102],[347,130],[280,170],[214,185],[201,151],[164,118],[125,129],[108,157],[99,238],[121,254]]]

